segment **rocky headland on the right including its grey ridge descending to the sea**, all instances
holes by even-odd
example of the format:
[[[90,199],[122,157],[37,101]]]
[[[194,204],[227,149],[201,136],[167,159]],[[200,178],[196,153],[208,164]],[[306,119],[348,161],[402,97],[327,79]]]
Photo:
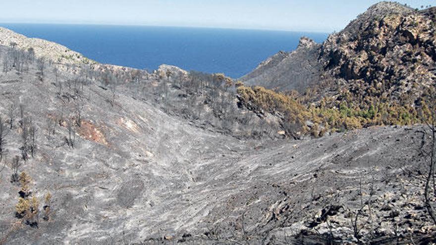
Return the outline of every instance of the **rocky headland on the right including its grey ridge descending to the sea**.
[[[435,11],[435,7],[416,11],[394,2],[378,3],[322,45],[302,39],[299,49],[282,62],[258,68],[242,80],[300,92],[337,80],[349,90],[379,84],[378,89],[393,98],[419,95],[436,79]],[[298,73],[305,75],[295,76]]]

